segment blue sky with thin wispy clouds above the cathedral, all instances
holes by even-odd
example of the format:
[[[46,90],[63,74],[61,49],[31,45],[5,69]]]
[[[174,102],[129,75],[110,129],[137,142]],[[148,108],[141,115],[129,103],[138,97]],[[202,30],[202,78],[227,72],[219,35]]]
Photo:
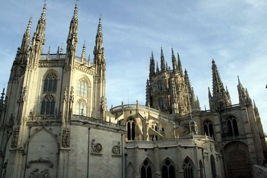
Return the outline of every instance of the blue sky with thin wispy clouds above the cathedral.
[[[44,53],[64,45],[75,0],[47,0]],[[7,86],[17,47],[30,16],[35,32],[43,0],[0,2],[0,88]],[[266,0],[79,0],[78,52],[85,43],[92,56],[98,18],[102,18],[108,108],[145,104],[149,57],[160,62],[160,48],[171,64],[179,53],[200,106],[209,109],[212,59],[216,61],[232,104],[237,104],[237,76],[255,99],[267,131],[267,1]],[[129,98],[129,99],[128,99]],[[129,101],[129,102],[128,102]]]

